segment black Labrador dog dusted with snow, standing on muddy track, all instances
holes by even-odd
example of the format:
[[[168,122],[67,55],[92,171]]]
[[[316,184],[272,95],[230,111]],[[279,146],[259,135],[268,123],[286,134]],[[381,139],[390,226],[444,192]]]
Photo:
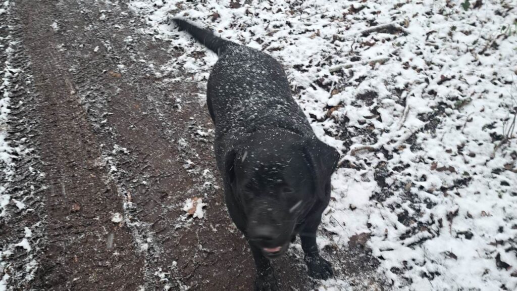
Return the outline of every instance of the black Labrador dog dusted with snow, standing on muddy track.
[[[184,20],[174,22],[219,55],[208,79],[207,104],[226,206],[255,260],[255,290],[276,288],[269,259],[284,254],[296,235],[311,277],[331,277],[330,263],[318,252],[316,229],[329,202],[338,152],[315,137],[271,56]]]

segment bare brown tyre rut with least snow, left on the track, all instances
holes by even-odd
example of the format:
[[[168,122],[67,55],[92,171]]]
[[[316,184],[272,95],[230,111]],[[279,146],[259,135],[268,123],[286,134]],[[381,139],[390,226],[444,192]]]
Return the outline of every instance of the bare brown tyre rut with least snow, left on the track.
[[[136,289],[142,257],[129,230],[114,224],[122,203],[99,167],[99,141],[86,119],[51,25],[51,2],[14,8],[37,91],[47,242],[32,287],[52,290]],[[45,29],[45,27],[48,27]],[[113,286],[116,286],[113,288]]]

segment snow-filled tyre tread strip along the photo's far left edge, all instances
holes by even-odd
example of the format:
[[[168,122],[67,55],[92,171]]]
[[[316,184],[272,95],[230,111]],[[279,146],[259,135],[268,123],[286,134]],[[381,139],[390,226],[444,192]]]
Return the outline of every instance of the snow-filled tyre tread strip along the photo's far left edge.
[[[4,4],[4,8],[7,12],[0,14],[0,83],[8,74],[9,85],[0,90],[0,96],[10,98],[10,112],[6,128],[0,130],[5,130],[6,141],[13,149],[7,152],[13,163],[10,173],[0,173],[0,187],[6,186],[2,194],[9,196],[5,212],[0,215],[0,280],[6,279],[7,284],[17,282],[15,290],[27,290],[37,270],[37,253],[44,240],[44,174],[34,150],[38,147],[35,137],[39,121],[31,118],[36,113],[33,79],[26,71],[28,60],[20,46],[21,33],[10,17],[10,5]],[[20,245],[24,239],[30,250]]]

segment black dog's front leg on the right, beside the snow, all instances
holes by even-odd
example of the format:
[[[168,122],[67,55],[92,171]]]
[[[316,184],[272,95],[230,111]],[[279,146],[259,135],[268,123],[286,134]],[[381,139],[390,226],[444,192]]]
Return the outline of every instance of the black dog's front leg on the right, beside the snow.
[[[320,216],[321,217],[321,216]],[[309,223],[300,234],[301,248],[305,254],[305,263],[309,269],[309,275],[315,279],[329,279],[334,275],[332,265],[322,258],[316,244],[316,229],[320,224],[320,219],[314,223]]]

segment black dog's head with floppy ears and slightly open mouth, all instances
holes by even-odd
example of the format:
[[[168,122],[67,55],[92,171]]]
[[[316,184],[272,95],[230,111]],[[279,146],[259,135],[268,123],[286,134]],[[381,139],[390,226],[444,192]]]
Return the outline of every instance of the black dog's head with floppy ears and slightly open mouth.
[[[246,233],[264,255],[287,250],[295,226],[328,200],[338,152],[317,138],[286,134],[254,139],[226,156],[226,182],[246,215]]]

